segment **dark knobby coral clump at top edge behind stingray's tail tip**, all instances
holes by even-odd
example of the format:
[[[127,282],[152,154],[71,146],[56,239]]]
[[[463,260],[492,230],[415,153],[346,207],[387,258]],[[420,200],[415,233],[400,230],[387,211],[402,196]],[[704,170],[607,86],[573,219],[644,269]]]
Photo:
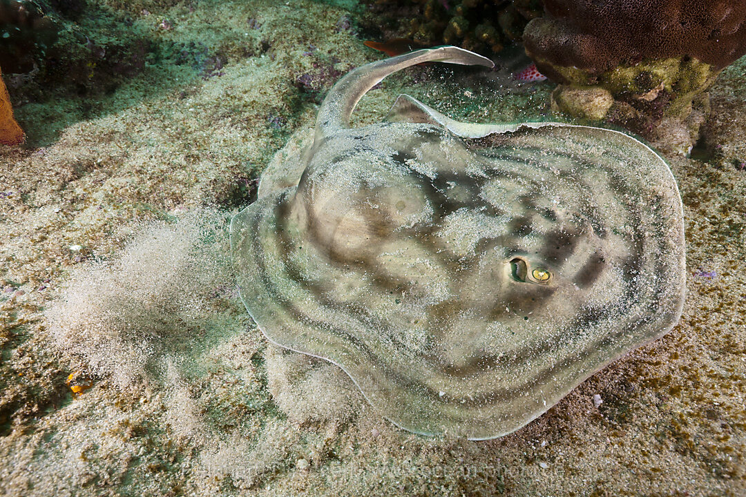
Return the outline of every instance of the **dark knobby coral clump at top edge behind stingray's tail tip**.
[[[374,23],[383,37],[412,37],[424,45],[457,45],[481,54],[518,41],[527,22],[541,15],[540,0],[378,0]]]

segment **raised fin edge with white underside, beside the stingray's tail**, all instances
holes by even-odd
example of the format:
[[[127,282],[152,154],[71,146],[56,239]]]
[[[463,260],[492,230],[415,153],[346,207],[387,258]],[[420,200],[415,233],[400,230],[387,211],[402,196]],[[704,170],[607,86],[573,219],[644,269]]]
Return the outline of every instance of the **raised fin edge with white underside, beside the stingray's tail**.
[[[538,128],[545,126],[572,126],[561,122],[518,122],[518,123],[495,123],[480,124],[456,121],[448,115],[439,113],[427,104],[423,104],[410,95],[399,95],[394,104],[386,115],[388,121],[393,122],[424,122],[430,124],[439,124],[448,128],[451,133],[464,138],[483,138],[484,136],[494,133],[512,133],[521,127]]]

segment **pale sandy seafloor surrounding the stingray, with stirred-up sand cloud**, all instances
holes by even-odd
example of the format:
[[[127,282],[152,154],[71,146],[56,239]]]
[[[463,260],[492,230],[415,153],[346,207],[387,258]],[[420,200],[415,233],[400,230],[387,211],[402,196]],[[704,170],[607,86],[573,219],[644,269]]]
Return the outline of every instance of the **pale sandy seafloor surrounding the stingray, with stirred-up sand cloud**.
[[[746,495],[746,60],[712,87],[710,153],[666,156],[686,216],[680,323],[471,442],[383,420],[336,367],[269,346],[233,290],[226,219],[333,80],[379,57],[354,2],[98,3],[227,62],[147,66],[87,113],[74,97],[16,109],[28,141],[0,149],[0,495]],[[354,123],[403,91],[457,117],[542,118],[551,88],[412,68]]]

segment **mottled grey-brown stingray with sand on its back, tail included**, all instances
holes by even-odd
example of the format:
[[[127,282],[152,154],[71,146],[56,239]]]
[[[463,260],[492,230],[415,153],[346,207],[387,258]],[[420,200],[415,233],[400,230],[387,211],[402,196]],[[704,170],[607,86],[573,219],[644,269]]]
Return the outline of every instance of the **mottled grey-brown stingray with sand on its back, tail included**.
[[[440,47],[342,77],[233,218],[239,293],[269,341],[338,365],[401,428],[500,437],[677,323],[680,194],[617,130],[465,123],[407,95],[349,126],[428,61],[492,66]]]

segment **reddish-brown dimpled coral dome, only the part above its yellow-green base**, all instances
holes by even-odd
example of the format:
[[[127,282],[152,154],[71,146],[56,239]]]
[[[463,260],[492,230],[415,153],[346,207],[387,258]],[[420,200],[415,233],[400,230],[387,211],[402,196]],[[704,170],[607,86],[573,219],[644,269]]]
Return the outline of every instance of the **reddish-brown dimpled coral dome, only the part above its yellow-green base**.
[[[746,53],[744,0],[545,0],[524,31],[542,74],[600,75],[644,59],[692,57],[717,71]]]

